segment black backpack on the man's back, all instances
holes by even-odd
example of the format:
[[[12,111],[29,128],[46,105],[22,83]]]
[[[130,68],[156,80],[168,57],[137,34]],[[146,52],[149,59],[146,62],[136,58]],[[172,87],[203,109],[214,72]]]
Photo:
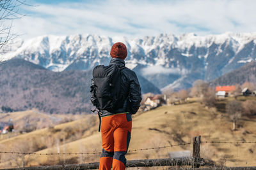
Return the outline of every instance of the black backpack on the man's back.
[[[120,96],[121,69],[116,64],[99,65],[93,69],[94,90],[99,110],[113,111],[124,105]]]

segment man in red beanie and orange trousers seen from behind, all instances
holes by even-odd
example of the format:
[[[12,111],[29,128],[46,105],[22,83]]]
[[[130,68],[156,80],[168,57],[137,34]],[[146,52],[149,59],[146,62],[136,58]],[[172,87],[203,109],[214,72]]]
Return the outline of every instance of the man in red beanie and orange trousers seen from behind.
[[[91,101],[102,117],[102,154],[99,169],[125,169],[131,139],[132,114],[140,108],[141,89],[136,73],[125,67],[127,48],[115,43],[109,66],[93,69]]]

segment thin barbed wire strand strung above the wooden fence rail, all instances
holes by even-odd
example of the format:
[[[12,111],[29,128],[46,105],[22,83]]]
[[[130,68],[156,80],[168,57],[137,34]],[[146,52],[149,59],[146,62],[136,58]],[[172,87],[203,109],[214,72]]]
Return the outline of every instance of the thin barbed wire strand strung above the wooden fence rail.
[[[200,141],[200,143],[228,143],[228,144],[243,144],[243,143],[256,143],[256,141],[237,141],[237,142],[230,142],[230,141]],[[168,146],[159,146],[159,147],[153,147],[153,148],[141,148],[141,149],[134,149],[134,150],[128,150],[128,152],[138,152],[142,150],[156,150],[161,148],[170,148],[173,146],[184,146],[184,145],[191,145],[191,143],[180,143],[177,145],[168,145]],[[8,154],[22,154],[22,155],[94,155],[94,154],[100,154],[101,152],[88,152],[88,153],[33,153],[33,152],[3,152],[0,151],[0,153],[8,153]]]

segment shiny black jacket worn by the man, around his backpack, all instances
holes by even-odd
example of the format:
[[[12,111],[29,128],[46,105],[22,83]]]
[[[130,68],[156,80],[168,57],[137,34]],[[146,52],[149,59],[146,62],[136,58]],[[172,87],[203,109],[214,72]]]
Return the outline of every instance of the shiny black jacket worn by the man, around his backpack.
[[[116,64],[118,67],[124,67],[125,62],[122,59],[113,58],[111,59],[109,64]],[[122,108],[118,108],[117,110],[111,111],[111,113],[107,110],[102,110],[102,117],[107,115],[113,115],[115,113],[125,113],[129,112],[131,114],[135,114],[138,109],[140,108],[140,102],[141,102],[141,89],[140,89],[140,83],[138,81],[138,78],[136,76],[136,73],[132,71],[131,69],[124,67],[124,69],[121,70],[122,73],[122,82],[121,82],[121,94],[122,96],[125,96],[125,103]],[[93,80],[92,80],[93,85]],[[95,91],[93,90],[91,92],[91,101],[97,101],[97,97],[95,94]],[[97,106],[95,102],[93,105]],[[99,105],[98,105],[99,106]]]

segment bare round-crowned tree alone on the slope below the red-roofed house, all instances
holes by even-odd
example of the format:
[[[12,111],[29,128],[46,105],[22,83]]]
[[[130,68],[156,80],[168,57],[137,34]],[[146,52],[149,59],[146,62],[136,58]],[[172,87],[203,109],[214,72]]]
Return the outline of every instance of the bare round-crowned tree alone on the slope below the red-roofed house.
[[[243,113],[243,106],[241,101],[229,101],[226,105],[228,117],[233,122],[233,131],[236,131],[237,120],[241,118]]]

